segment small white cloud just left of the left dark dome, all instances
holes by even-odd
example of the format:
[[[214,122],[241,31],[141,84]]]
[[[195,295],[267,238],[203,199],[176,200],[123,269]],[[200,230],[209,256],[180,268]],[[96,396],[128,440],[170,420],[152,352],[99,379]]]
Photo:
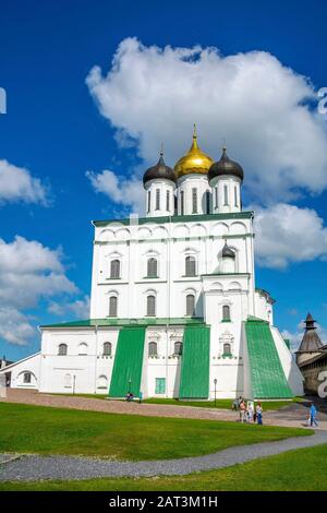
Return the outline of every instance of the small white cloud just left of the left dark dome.
[[[86,177],[96,192],[102,192],[114,203],[131,206],[133,212],[144,210],[144,190],[141,180],[122,179],[108,169],[98,174],[87,171]]]

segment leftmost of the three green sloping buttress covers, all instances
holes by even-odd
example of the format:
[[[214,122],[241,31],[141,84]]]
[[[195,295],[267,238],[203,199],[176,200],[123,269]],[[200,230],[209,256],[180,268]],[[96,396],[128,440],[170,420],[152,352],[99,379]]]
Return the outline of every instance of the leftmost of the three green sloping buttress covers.
[[[125,397],[128,392],[140,394],[145,327],[123,327],[118,335],[109,390],[110,397]]]

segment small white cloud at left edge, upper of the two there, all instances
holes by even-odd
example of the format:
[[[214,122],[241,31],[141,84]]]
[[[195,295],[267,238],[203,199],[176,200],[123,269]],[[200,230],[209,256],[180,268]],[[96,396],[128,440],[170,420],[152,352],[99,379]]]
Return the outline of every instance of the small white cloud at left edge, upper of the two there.
[[[48,190],[28,169],[0,159],[0,203],[48,204]]]

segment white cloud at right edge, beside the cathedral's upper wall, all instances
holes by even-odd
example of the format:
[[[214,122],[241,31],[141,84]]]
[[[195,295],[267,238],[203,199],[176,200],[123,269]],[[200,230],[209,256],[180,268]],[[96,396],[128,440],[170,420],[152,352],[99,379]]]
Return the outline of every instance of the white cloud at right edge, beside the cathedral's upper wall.
[[[311,208],[279,203],[255,208],[255,255],[265,267],[284,269],[292,262],[327,256],[327,228]]]

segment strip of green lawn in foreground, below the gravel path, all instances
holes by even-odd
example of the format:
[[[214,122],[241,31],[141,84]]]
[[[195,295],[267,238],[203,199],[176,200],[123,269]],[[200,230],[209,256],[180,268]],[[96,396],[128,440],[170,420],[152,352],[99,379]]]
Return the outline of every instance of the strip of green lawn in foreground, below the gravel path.
[[[0,482],[0,491],[318,491],[327,490],[327,445],[291,451],[190,476]]]

